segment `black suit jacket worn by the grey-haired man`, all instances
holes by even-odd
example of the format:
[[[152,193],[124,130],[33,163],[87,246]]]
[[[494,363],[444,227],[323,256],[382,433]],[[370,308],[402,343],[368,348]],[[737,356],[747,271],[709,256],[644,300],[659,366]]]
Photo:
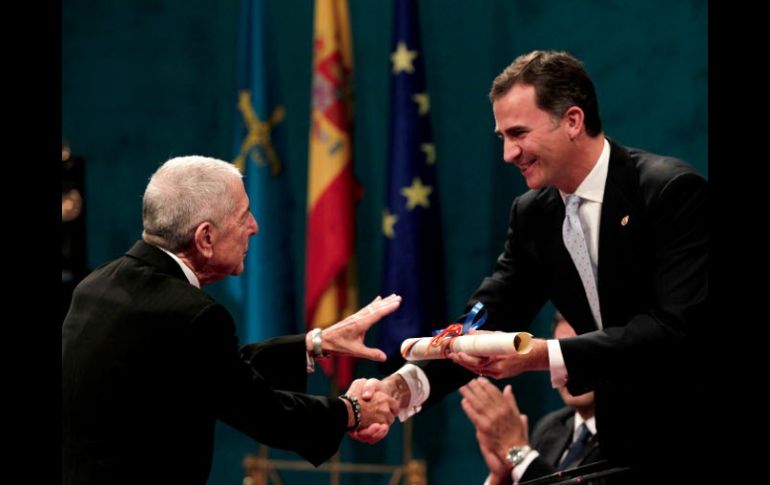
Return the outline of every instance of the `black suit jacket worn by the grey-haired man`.
[[[328,459],[347,410],[292,392],[305,387],[304,336],[237,345],[227,310],[158,248],[139,241],[96,269],[62,328],[63,483],[205,483],[217,419]]]

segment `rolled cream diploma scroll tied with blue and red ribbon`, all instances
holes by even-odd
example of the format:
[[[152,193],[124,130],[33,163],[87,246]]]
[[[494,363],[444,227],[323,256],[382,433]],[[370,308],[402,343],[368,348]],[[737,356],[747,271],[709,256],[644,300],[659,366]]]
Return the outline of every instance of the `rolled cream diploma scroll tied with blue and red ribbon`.
[[[430,345],[432,340],[433,337],[408,338],[401,343],[401,355],[406,360],[428,360],[445,359],[449,352],[489,357],[526,354],[532,350],[532,334],[527,332],[460,335],[448,344],[442,342],[442,345]]]

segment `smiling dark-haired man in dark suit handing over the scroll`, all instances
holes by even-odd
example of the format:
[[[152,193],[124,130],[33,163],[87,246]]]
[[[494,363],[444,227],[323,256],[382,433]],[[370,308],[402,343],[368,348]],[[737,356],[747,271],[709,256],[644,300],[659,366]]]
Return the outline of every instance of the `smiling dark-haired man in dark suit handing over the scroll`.
[[[503,252],[468,310],[481,302],[485,329],[520,331],[550,299],[578,335],[533,339],[527,354],[407,364],[370,380],[364,397],[384,389],[404,420],[475,375],[549,370],[554,387],[595,391],[607,458],[639,476],[682,473],[702,434],[691,410],[706,399],[707,182],[681,160],[605,137],[593,83],[570,54],[517,58],[490,99],[503,158],[531,190],[513,201]]]

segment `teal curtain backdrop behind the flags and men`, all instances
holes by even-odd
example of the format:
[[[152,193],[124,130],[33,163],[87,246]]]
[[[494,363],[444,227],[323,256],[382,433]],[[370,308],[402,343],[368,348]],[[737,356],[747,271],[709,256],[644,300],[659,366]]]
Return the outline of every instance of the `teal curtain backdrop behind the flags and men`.
[[[310,114],[311,0],[265,0],[271,80],[286,109],[283,164],[291,203],[276,217],[292,231],[296,295],[302,295]],[[502,163],[487,92],[516,56],[567,50],[596,83],[608,136],[674,155],[708,177],[708,3],[593,0],[422,0],[420,25],[440,187],[447,315],[459,314],[502,247],[510,202],[525,190]],[[361,301],[381,291],[388,157],[393,2],[351,0],[355,76],[355,174]],[[62,4],[62,136],[86,163],[88,264],[122,254],[141,234],[141,196],[169,157],[232,160],[239,2],[227,0],[66,0]],[[258,236],[259,237],[259,236]],[[243,324],[226,282],[208,288]],[[295,298],[301,305],[302,298]],[[547,336],[552,308],[534,323]],[[304,331],[295,308],[293,331]],[[442,322],[436,322],[437,326]],[[242,335],[244,335],[242,330]],[[376,343],[376,332],[371,336]],[[381,376],[363,363],[359,376]],[[511,379],[522,411],[536,421],[560,405],[545,373]],[[502,383],[501,383],[502,384]],[[311,391],[325,393],[322,373]],[[455,393],[414,422],[414,453],[430,484],[481,483],[485,468]],[[368,446],[345,440],[343,461],[397,463],[402,426]],[[151,439],[151,438],[149,438]],[[241,483],[241,460],[256,444],[222,425],[210,483]],[[276,452],[293,458],[288,452]],[[173,464],[184,466],[183,464]],[[285,483],[328,483],[322,474],[286,473]],[[387,483],[345,476],[344,484]]]

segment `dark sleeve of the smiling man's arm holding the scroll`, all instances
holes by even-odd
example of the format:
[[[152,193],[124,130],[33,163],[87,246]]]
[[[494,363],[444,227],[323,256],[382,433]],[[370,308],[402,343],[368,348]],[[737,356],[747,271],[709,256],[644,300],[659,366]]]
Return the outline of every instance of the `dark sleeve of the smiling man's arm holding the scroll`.
[[[638,285],[642,304],[627,324],[560,341],[572,394],[613,380],[645,382],[697,360],[684,354],[707,331],[707,188],[697,174],[684,173],[661,184],[648,203],[651,271]]]

